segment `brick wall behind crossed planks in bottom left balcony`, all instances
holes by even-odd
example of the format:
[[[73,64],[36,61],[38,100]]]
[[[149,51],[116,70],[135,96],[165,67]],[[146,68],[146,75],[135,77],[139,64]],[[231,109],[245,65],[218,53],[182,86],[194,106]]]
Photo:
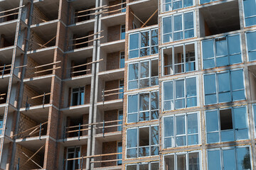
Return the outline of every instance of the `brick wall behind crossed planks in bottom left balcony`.
[[[41,149],[41,151],[43,151],[43,149]],[[20,165],[19,169],[21,169],[21,170],[40,169],[36,164],[34,164],[31,161],[29,161],[28,163],[23,165],[28,160],[28,157],[26,157],[25,154],[28,157],[31,157],[33,154],[35,154],[35,152],[31,151],[30,149],[27,149],[26,147],[23,147],[23,146],[17,144],[16,145],[15,161],[14,161],[15,168],[16,168],[16,165],[18,164],[18,159],[20,159],[19,160],[19,165]],[[36,162],[37,164],[41,165],[41,166],[43,164],[42,160],[43,160],[43,154],[41,154],[41,152],[38,152],[38,154],[36,154],[33,157],[33,161]],[[21,166],[21,165],[23,165],[23,166]]]

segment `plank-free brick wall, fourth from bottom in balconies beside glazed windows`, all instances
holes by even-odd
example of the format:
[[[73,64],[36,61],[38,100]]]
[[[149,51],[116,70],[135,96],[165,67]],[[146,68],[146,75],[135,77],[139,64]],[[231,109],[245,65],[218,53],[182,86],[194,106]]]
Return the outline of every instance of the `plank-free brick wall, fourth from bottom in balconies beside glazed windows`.
[[[120,52],[112,52],[107,54],[107,70],[119,69]]]

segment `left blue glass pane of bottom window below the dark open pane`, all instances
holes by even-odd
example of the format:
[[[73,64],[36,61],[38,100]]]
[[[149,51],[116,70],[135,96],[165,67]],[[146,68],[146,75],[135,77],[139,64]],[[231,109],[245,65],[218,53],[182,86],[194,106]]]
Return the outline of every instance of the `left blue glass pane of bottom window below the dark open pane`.
[[[221,170],[219,150],[208,151],[208,170]]]

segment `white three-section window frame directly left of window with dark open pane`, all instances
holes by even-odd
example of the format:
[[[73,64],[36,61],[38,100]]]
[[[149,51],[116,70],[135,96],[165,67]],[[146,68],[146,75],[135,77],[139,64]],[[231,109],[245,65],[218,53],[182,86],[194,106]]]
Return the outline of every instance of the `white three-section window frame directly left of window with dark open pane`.
[[[174,115],[168,115],[168,116],[164,116],[163,117],[163,121],[162,121],[162,137],[163,137],[163,148],[164,149],[169,149],[169,148],[175,148],[176,146],[176,137],[177,136],[184,136],[184,135],[176,135],[176,117],[177,116],[180,116],[180,115],[185,115],[185,136],[186,136],[186,145],[183,145],[183,146],[178,146],[178,147],[186,147],[186,146],[194,146],[194,145],[188,145],[188,116],[187,115],[191,115],[191,114],[197,114],[197,118],[198,118],[198,133],[193,133],[193,134],[189,134],[189,135],[198,135],[198,144],[197,145],[201,145],[201,119],[200,119],[200,113],[199,112],[191,112],[191,113],[181,113],[181,114],[174,114]],[[164,129],[164,118],[171,118],[173,117],[174,118],[174,147],[165,147],[164,146],[164,139],[165,138],[170,138],[170,137],[165,137],[164,136],[164,132],[166,131]]]

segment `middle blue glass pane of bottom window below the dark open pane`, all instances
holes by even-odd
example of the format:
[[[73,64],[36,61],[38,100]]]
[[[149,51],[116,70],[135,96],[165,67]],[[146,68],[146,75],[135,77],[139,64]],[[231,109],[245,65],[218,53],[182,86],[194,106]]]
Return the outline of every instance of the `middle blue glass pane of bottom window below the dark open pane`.
[[[223,150],[223,166],[225,170],[235,170],[235,150]]]

